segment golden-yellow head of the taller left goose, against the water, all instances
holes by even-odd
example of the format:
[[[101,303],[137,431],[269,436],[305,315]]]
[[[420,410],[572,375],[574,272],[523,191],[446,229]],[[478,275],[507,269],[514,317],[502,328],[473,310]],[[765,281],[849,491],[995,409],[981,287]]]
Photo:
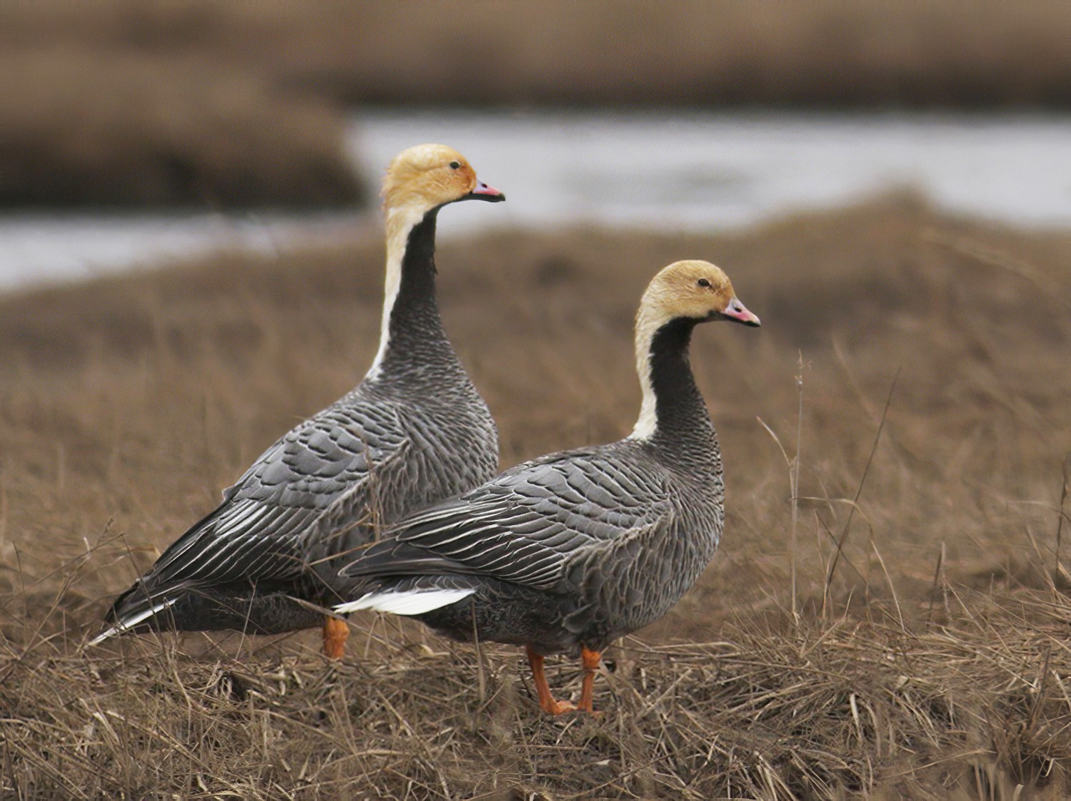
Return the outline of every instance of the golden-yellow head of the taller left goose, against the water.
[[[465,156],[444,144],[417,144],[398,153],[383,178],[387,209],[431,211],[457,200],[506,200],[479,181]]]

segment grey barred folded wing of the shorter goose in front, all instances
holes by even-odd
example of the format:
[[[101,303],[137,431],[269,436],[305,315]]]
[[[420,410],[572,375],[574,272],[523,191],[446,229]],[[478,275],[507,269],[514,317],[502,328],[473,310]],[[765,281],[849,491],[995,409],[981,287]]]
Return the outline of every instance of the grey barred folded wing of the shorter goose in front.
[[[613,451],[567,451],[507,471],[406,518],[343,568],[348,577],[479,574],[538,588],[567,559],[669,515],[665,480]]]

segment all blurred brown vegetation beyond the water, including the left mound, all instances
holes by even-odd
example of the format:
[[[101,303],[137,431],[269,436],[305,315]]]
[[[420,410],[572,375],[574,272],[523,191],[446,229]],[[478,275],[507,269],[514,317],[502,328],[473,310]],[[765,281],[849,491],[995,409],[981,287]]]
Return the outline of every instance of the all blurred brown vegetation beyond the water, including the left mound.
[[[346,106],[1071,107],[1071,6],[0,3],[0,205],[346,203]]]

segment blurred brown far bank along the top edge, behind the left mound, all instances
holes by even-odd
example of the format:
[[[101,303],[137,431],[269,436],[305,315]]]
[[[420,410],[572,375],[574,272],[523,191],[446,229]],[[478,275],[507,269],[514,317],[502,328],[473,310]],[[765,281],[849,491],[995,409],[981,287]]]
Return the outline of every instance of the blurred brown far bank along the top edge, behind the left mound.
[[[196,53],[357,103],[1071,105],[1060,0],[37,0],[15,41]]]

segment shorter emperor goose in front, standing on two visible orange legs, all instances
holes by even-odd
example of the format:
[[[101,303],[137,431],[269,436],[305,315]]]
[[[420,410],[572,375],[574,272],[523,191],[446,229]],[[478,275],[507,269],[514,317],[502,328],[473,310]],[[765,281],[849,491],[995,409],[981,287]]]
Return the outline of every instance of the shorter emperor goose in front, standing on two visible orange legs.
[[[757,326],[704,261],[661,271],[636,315],[643,405],[632,434],[553,453],[390,527],[342,573],[349,603],[411,615],[448,636],[523,645],[547,712],[591,711],[600,652],[691,587],[722,534],[722,460],[689,365],[692,329]],[[543,658],[583,660],[579,703],[555,700]]]

